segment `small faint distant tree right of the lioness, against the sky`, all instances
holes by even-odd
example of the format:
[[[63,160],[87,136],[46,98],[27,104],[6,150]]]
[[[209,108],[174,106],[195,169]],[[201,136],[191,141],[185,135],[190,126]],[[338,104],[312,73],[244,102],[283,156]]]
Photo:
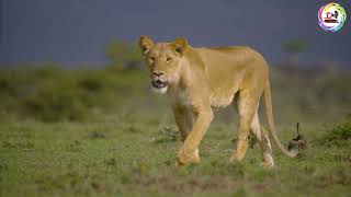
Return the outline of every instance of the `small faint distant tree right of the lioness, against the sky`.
[[[290,54],[288,61],[298,66],[298,55],[306,49],[306,42],[303,39],[291,39],[283,45],[283,50]]]

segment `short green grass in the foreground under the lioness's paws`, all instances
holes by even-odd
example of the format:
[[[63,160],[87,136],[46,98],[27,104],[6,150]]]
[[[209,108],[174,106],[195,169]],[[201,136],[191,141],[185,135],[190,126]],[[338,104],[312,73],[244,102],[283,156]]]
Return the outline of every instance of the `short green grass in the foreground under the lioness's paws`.
[[[335,131],[320,125],[304,127],[309,149],[296,159],[274,146],[273,170],[259,166],[258,146],[230,164],[236,129],[222,121],[203,139],[201,163],[177,169],[179,136],[158,127],[158,117],[146,113],[91,123],[2,121],[0,196],[350,195],[351,141],[326,144],[320,139]],[[294,135],[279,128],[283,141]]]

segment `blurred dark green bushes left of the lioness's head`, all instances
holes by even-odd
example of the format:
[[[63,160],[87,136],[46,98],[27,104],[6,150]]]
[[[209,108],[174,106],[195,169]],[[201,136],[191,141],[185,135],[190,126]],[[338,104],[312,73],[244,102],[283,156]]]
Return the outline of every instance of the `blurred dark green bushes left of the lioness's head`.
[[[45,121],[83,120],[111,111],[140,88],[139,71],[65,70],[53,66],[0,71],[0,115]]]

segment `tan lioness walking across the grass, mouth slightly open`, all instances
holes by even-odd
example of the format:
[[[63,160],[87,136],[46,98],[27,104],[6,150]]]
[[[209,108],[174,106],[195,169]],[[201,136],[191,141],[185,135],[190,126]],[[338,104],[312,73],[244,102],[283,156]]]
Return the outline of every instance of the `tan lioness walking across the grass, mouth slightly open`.
[[[152,90],[167,94],[183,144],[177,165],[197,163],[199,143],[212,119],[213,107],[234,104],[238,112],[238,142],[230,161],[242,160],[251,131],[262,149],[264,166],[274,166],[270,139],[262,131],[258,105],[263,96],[271,135],[278,147],[288,157],[280,142],[272,115],[269,68],[264,58],[246,46],[195,48],[185,38],[171,43],[154,43],[140,36],[139,47],[151,78]]]

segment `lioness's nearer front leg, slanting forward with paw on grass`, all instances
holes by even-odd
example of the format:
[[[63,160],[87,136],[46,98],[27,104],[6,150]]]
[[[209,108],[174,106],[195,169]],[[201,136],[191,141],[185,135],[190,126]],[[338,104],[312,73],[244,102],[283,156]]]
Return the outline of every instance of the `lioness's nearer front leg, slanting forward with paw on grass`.
[[[213,112],[208,106],[208,108],[201,108],[194,113],[197,115],[197,118],[178,153],[178,165],[200,162],[197,147],[213,119]]]

